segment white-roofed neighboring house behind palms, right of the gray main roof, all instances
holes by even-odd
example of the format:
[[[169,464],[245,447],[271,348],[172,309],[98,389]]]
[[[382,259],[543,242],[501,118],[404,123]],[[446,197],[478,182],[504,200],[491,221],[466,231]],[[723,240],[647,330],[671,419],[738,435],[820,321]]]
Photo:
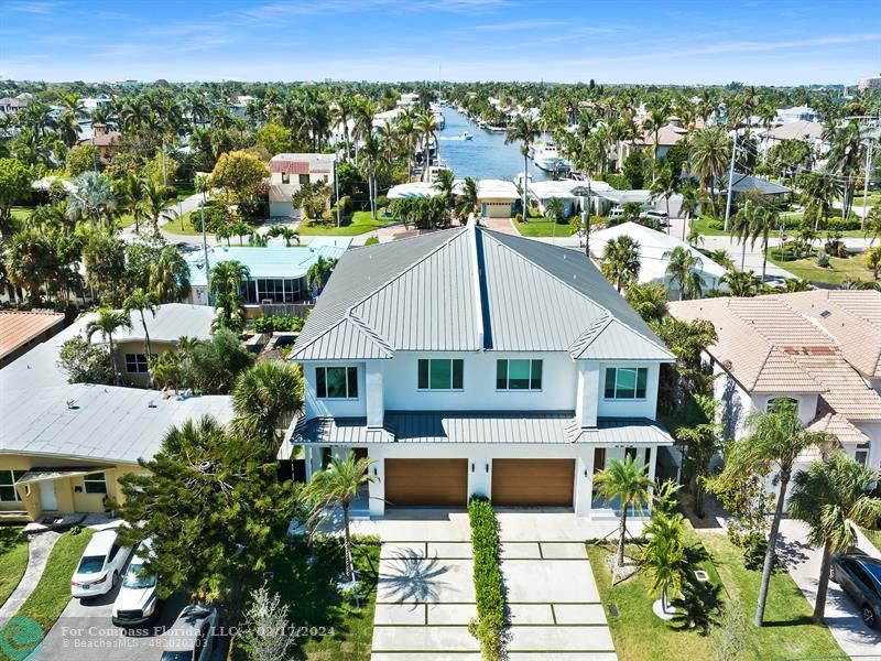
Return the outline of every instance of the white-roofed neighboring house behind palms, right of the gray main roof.
[[[727,289],[727,285],[720,282],[722,275],[727,272],[725,268],[685,241],[630,220],[590,234],[590,252],[595,259],[601,259],[606,243],[621,236],[629,236],[640,245],[640,272],[638,279],[640,284],[666,284],[670,286],[671,297],[674,300],[679,299],[679,285],[677,282],[672,282],[666,272],[670,264],[667,256],[676,248],[685,248],[700,260],[700,268],[697,269],[697,272],[704,279],[704,291]]]

